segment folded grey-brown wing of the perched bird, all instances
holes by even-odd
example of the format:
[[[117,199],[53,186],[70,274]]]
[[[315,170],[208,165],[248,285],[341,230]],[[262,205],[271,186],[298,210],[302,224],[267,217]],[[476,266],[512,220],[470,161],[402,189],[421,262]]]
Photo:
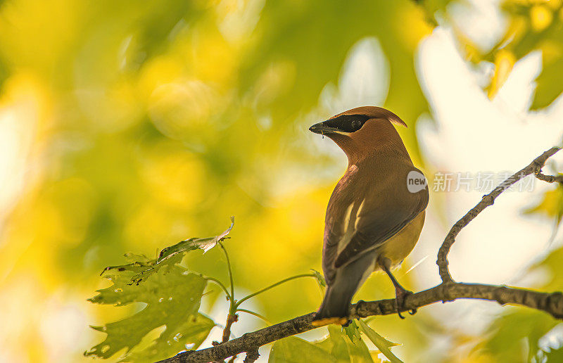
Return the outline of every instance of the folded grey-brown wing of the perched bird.
[[[360,205],[355,203],[358,208],[352,208],[346,233],[341,236],[328,234],[329,240],[338,238],[338,242],[327,241],[327,246],[336,245],[336,248],[332,248],[330,259],[334,261],[331,264],[334,269],[352,262],[365,251],[384,243],[415,219],[428,205],[427,187],[417,193],[410,193],[406,184],[404,189],[397,181],[385,184],[387,185],[383,188],[377,189],[377,193],[368,191]]]

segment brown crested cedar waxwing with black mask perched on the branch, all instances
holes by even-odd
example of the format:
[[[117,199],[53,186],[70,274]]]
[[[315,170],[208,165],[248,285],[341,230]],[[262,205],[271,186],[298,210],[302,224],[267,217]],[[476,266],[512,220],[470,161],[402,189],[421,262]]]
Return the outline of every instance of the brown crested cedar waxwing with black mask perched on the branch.
[[[332,192],[324,222],[327,290],[315,326],[346,324],[353,295],[378,269],[393,282],[403,318],[400,310],[411,292],[400,286],[391,268],[415,247],[429,194],[392,122],[407,126],[384,108],[365,106],[310,127],[348,156],[348,169]]]

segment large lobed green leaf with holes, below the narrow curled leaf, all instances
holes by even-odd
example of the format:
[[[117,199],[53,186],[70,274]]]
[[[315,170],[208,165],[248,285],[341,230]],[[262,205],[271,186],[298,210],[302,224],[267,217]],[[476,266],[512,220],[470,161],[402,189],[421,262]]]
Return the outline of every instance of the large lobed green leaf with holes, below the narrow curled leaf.
[[[181,350],[198,347],[215,326],[198,313],[206,281],[184,267],[166,265],[146,279],[144,284],[129,284],[131,270],[106,276],[113,285],[98,291],[92,303],[122,306],[145,303],[143,310],[120,321],[92,326],[107,333],[106,339],[84,352],[86,356],[109,358],[125,349],[120,357],[128,362],[154,362]],[[137,347],[154,329],[165,327],[148,347]]]

